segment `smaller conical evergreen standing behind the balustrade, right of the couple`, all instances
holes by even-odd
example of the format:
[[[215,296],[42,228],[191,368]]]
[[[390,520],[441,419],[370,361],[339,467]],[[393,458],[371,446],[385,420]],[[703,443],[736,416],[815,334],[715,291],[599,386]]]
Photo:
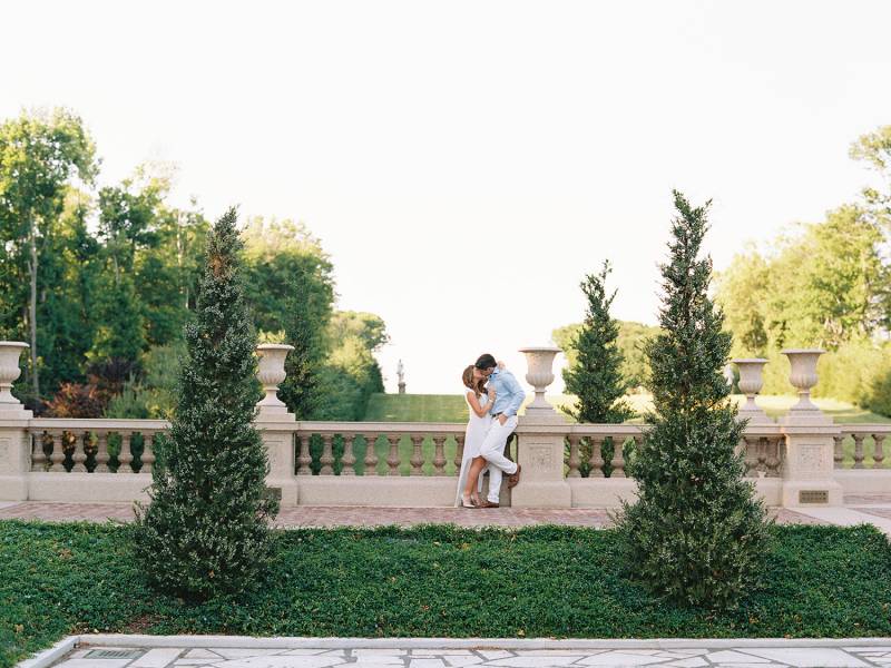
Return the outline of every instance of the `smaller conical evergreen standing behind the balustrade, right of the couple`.
[[[599,274],[589,274],[581,283],[588,311],[572,342],[577,352],[575,364],[564,370],[566,390],[577,399],[571,407],[562,407],[578,422],[625,422],[634,415],[634,410],[623,401],[628,384],[621,376],[624,357],[617,345],[619,325],[609,315],[616,297],[616,291],[610,295],[606,292],[609,272],[609,261],[606,261]]]

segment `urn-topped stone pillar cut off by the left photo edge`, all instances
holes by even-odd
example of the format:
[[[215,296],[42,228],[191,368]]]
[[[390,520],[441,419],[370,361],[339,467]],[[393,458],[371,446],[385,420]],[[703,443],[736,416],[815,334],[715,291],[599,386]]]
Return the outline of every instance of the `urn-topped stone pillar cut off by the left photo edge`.
[[[19,356],[27,343],[0,341],[0,501],[28,499],[31,448],[28,423],[33,418],[12,395],[12,382],[19,377]]]

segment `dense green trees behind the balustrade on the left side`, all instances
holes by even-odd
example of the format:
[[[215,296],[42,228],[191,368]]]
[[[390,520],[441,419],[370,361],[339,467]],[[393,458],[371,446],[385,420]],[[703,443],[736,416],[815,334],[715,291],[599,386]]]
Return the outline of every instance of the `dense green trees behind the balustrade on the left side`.
[[[31,344],[16,393],[38,413],[169,416],[209,224],[169,203],[169,167],[97,187],[99,167],[68,110],[0,125],[0,338]],[[383,321],[335,310],[331,259],[302,223],[256,216],[241,233],[254,325],[296,348],[283,399],[302,419],[361,419],[383,391]]]

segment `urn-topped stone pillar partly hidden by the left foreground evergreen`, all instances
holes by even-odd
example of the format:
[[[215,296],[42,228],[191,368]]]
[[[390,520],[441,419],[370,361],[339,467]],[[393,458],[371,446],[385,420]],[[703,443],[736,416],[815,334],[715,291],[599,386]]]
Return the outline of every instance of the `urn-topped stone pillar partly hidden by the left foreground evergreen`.
[[[265,396],[257,403],[260,411],[255,425],[266,445],[270,474],[266,487],[281,493],[282,508],[297,504],[297,482],[294,478],[295,418],[278,399],[278,384],[285,380],[285,357],[292,345],[264,343],[257,346],[257,379]]]

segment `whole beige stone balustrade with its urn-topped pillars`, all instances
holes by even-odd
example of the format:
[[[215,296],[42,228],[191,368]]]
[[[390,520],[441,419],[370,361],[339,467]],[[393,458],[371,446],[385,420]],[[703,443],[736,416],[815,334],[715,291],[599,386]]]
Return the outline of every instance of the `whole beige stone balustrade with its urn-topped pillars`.
[[[169,423],[35,419],[9,393],[26,347],[0,342],[0,500],[146,499],[155,449]],[[283,505],[453,503],[463,424],[296,421],[276,396],[287,351],[258,348],[264,397],[256,419],[270,458],[267,484],[281,491]],[[633,498],[636,483],[627,465],[648,426],[567,422],[545,400],[558,351],[522,352],[536,401],[508,451],[523,466],[522,482],[502,489],[502,503],[613,508]],[[755,403],[765,361],[734,361],[747,395],[740,412],[747,422],[740,452],[746,474],[772,505],[838,504],[842,491],[891,491],[884,456],[891,424],[836,425],[810,401],[820,353],[787,351],[801,401],[780,421]]]

